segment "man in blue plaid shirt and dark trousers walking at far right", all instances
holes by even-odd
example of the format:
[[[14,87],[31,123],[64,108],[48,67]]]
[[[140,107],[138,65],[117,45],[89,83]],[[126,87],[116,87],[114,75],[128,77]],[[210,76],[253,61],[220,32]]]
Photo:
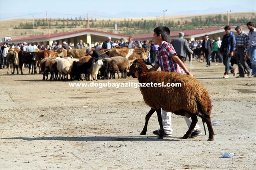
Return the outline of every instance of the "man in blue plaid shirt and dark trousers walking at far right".
[[[237,65],[239,70],[239,76],[237,76],[236,78],[244,77],[244,69],[247,70],[247,76],[251,76],[251,69],[245,62],[246,52],[249,46],[249,36],[248,34],[244,33],[244,31],[242,31],[241,26],[237,26],[235,28],[235,31],[237,31],[237,34],[238,34],[237,38],[235,39],[236,41],[235,48],[237,49],[237,53],[235,57],[237,59]]]

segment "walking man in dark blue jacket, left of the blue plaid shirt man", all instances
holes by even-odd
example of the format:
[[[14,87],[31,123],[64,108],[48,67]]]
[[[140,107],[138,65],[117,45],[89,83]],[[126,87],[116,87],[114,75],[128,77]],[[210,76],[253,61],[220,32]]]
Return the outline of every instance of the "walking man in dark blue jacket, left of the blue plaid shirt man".
[[[234,56],[235,35],[233,34],[233,32],[230,31],[230,26],[225,26],[224,30],[226,34],[223,36],[220,51],[218,52],[218,54],[223,54],[223,64],[225,65],[225,73],[223,78],[228,78],[228,70],[231,70],[234,76],[237,75],[237,68],[229,64],[231,57]]]

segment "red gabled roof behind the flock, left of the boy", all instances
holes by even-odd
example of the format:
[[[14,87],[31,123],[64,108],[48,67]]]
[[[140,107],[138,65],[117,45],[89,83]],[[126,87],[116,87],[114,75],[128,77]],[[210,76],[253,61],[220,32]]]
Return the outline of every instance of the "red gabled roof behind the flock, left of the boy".
[[[84,29],[84,30],[80,30],[80,31],[50,34],[50,37],[47,34],[47,35],[31,36],[31,37],[13,39],[12,41],[26,41],[26,40],[32,40],[32,39],[47,39],[47,38],[61,37],[61,36],[67,36],[67,35],[71,35],[71,34],[77,34],[77,33],[81,33],[81,32],[97,32],[97,33],[102,33],[102,34],[110,34],[110,35],[117,35],[117,36],[123,36],[123,37],[130,37],[130,36],[123,35],[123,34],[114,34],[114,33],[111,33],[111,32],[97,31],[97,30],[92,30],[92,29]]]

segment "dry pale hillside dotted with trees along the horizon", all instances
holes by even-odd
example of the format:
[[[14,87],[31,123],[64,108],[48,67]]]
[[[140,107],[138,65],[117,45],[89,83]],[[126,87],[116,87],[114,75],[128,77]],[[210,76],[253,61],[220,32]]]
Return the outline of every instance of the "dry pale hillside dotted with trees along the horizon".
[[[256,23],[255,12],[231,12],[230,25],[245,25],[249,21]],[[114,24],[118,25],[118,34],[146,34],[154,27],[163,25],[163,17],[136,17],[90,19],[90,29],[114,33]],[[171,31],[197,29],[204,27],[221,27],[227,25],[227,14],[175,15],[165,17],[166,26]],[[50,34],[57,32],[79,31],[87,29],[85,18],[49,19]],[[46,19],[35,19],[35,35],[48,34]],[[12,19],[0,21],[0,37],[12,39],[33,36],[33,19]]]

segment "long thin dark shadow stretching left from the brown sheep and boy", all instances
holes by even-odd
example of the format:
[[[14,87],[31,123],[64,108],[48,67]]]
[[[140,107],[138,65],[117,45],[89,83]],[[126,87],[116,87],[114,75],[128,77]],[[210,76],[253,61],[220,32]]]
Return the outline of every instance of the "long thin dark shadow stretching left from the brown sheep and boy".
[[[66,137],[66,136],[49,136],[49,137],[10,137],[0,139],[23,139],[26,141],[184,141],[180,137],[171,137],[157,139],[156,136],[81,136],[81,137]],[[192,141],[192,140],[191,140]]]

